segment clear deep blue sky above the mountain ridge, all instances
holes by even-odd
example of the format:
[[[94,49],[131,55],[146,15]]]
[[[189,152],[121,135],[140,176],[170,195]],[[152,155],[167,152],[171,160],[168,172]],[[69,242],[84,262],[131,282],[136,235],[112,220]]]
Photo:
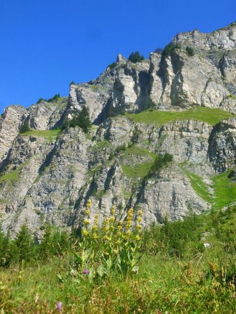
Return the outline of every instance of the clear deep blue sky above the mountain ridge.
[[[234,22],[235,0],[0,0],[0,112],[87,82],[139,50],[149,57],[176,33]]]

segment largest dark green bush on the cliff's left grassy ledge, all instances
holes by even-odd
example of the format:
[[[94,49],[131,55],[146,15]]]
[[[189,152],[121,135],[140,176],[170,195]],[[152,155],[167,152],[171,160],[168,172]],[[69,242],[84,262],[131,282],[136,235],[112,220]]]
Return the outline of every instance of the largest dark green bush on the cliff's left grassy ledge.
[[[87,107],[82,107],[80,112],[73,117],[71,120],[66,120],[64,124],[61,126],[61,129],[65,128],[75,128],[75,126],[79,126],[82,128],[84,133],[89,132],[89,128],[91,128],[91,121],[89,119],[89,110]]]

